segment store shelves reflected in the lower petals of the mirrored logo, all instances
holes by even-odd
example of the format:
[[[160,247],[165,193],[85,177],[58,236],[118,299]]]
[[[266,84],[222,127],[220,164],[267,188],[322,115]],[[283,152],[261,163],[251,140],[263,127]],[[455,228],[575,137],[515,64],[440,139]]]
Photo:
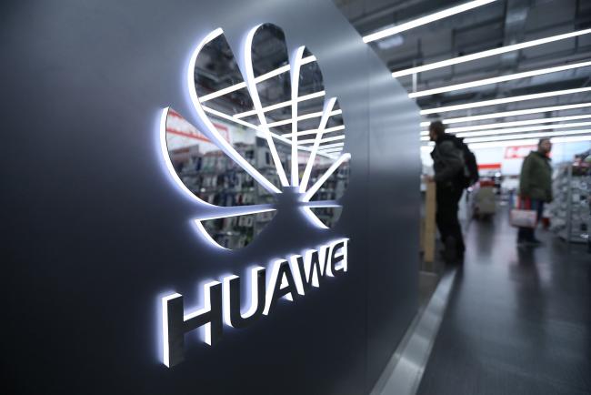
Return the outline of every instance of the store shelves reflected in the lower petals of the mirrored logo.
[[[285,169],[291,162],[291,148],[277,145],[277,154]],[[275,187],[281,188],[271,152],[261,138],[254,144],[235,144],[236,151],[257,168]],[[198,146],[173,152],[176,172],[195,196],[216,206],[244,206],[274,203],[264,187],[256,183],[242,167],[219,150],[203,153]],[[176,154],[176,155],[175,155]],[[318,166],[310,174],[310,185],[328,166]],[[301,169],[303,172],[303,167]],[[334,200],[342,196],[348,183],[348,164],[339,167],[316,193],[314,200]],[[300,175],[301,176],[301,175]],[[340,216],[340,208],[314,208],[316,216],[331,227]],[[245,247],[275,217],[275,211],[203,221],[215,241],[225,248]]]

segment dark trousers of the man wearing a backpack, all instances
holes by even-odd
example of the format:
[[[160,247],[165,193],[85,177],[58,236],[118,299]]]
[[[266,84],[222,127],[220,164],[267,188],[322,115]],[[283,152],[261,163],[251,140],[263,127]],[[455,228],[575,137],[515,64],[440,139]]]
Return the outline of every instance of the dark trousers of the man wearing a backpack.
[[[464,237],[462,236],[462,227],[457,219],[459,201],[463,193],[464,188],[462,187],[437,185],[436,223],[441,235],[441,241],[446,245],[447,238],[454,238],[456,240],[456,252],[460,254],[463,254],[466,249]]]

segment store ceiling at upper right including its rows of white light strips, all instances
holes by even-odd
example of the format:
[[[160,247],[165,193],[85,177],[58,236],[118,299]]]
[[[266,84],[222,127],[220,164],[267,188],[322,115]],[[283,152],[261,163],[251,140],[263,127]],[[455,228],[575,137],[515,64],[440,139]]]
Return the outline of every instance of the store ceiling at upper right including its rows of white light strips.
[[[591,2],[334,0],[429,121],[482,147],[591,140]]]

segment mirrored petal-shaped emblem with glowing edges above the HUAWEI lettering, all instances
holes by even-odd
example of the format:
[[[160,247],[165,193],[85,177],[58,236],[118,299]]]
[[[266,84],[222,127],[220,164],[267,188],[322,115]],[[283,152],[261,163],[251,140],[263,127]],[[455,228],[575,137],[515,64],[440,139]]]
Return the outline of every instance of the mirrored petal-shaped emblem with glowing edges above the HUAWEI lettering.
[[[215,246],[244,247],[272,220],[282,194],[295,194],[317,227],[331,227],[350,155],[343,111],[326,98],[316,56],[300,46],[290,61],[283,32],[266,24],[246,36],[241,60],[244,67],[222,29],[207,35],[187,73],[201,130],[172,108],[162,114],[170,174],[209,208],[196,228]]]

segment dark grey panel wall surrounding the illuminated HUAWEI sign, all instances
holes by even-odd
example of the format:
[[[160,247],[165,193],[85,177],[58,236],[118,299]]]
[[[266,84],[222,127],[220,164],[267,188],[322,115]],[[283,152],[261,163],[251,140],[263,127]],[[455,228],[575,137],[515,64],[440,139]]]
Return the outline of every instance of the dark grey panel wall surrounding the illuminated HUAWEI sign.
[[[3,5],[3,386],[10,393],[367,392],[416,311],[418,111],[329,1],[62,0]],[[353,156],[336,229],[285,212],[249,247],[219,253],[159,157],[163,106],[198,40],[238,50],[256,23],[318,57]],[[194,121],[195,119],[190,120]],[[306,228],[307,227],[307,228]],[[209,348],[187,336],[158,359],[158,297],[336,235],[348,275]],[[4,392],[4,391],[3,391]],[[8,392],[6,392],[8,393]]]

